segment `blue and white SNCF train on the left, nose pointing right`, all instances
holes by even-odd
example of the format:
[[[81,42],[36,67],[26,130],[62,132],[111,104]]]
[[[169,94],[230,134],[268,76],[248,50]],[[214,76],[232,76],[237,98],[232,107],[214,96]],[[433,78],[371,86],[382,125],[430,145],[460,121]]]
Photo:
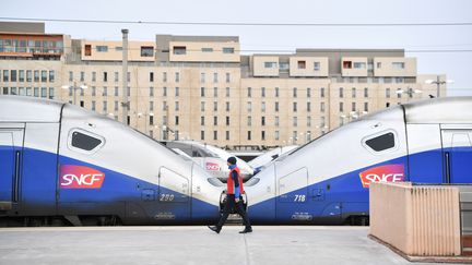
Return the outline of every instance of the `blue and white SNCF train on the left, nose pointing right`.
[[[0,225],[211,222],[222,183],[148,136],[70,104],[0,96]]]

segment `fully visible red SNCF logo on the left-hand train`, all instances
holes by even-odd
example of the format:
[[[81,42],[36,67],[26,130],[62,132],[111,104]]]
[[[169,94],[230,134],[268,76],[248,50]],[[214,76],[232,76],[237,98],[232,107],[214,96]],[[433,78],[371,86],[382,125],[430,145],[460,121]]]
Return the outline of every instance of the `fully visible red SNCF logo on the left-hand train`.
[[[101,189],[105,173],[96,169],[61,165],[60,188],[61,189]]]

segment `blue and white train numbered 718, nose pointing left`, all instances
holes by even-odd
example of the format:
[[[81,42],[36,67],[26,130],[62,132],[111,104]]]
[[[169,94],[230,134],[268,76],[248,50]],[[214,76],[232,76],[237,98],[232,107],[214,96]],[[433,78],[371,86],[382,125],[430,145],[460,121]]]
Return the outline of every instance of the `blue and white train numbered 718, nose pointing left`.
[[[472,97],[365,116],[281,157],[245,186],[252,222],[366,224],[371,181],[472,183]]]

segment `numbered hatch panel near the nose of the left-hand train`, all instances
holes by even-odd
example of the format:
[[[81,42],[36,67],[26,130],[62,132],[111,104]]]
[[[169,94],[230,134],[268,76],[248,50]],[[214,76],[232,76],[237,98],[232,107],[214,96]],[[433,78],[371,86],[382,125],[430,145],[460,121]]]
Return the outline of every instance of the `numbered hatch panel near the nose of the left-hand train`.
[[[190,181],[186,177],[161,167],[158,176],[157,201],[160,204],[160,219],[175,220],[190,219]]]

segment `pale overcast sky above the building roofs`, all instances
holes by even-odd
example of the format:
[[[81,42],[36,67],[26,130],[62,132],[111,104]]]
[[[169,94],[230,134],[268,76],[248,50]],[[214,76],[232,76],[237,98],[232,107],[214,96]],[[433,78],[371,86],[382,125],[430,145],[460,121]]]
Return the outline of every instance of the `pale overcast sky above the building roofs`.
[[[471,0],[16,0],[2,17],[269,24],[472,23]],[[399,48],[417,58],[418,74],[446,74],[449,96],[472,96],[472,25],[212,26],[46,22],[47,33],[75,39],[154,40],[156,34],[238,36],[241,53],[296,48]],[[439,52],[430,52],[430,50]],[[450,50],[463,50],[451,52]]]

